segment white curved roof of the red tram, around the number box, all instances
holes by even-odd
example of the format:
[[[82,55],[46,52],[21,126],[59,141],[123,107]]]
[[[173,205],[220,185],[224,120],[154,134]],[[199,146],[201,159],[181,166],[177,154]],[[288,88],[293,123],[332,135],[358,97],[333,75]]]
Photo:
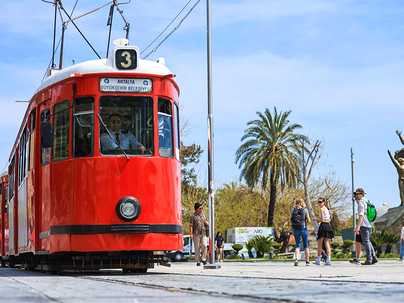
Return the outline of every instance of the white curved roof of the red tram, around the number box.
[[[35,93],[56,82],[72,77],[74,74],[102,74],[102,73],[122,73],[122,74],[150,74],[158,76],[172,75],[171,71],[159,62],[139,59],[139,65],[135,70],[117,70],[114,68],[113,56],[108,59],[90,60],[66,67],[47,77],[35,90]]]

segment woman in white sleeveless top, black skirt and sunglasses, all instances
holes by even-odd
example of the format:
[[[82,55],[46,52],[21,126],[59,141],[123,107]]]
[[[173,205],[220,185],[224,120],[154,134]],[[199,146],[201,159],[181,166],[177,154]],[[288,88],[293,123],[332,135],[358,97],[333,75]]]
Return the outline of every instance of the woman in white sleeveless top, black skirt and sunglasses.
[[[330,248],[330,239],[334,237],[334,232],[332,231],[330,225],[330,209],[328,208],[325,198],[318,198],[317,203],[320,206],[320,219],[313,218],[313,220],[320,222],[320,227],[318,230],[318,241],[317,241],[317,259],[313,262],[313,264],[320,265],[321,259],[321,251],[323,241],[325,244],[325,248],[327,251],[327,261],[324,265],[331,265],[331,248]]]

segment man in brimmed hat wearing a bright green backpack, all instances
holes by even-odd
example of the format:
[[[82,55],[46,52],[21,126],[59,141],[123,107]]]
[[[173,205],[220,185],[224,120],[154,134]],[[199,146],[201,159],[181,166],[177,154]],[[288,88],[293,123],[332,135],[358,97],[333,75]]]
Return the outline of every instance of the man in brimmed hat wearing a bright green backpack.
[[[372,251],[374,252],[375,249],[373,248],[372,242],[370,241],[370,236],[373,229],[373,225],[371,222],[376,219],[376,212],[374,211],[374,206],[369,202],[367,198],[365,198],[366,192],[364,192],[362,188],[358,188],[354,192],[354,194],[356,195],[356,200],[358,203],[358,224],[357,227],[354,229],[354,233],[361,234],[366,250],[366,261],[362,262],[361,264],[372,265],[378,262],[376,254],[372,254]],[[369,208],[371,210],[369,210]]]

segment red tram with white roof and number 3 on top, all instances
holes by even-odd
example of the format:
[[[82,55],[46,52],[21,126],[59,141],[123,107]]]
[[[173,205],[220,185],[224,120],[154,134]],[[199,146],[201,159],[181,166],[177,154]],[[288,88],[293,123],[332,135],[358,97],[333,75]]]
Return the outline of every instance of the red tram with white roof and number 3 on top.
[[[36,90],[2,177],[2,265],[146,272],[182,249],[179,88],[138,54],[115,46]]]

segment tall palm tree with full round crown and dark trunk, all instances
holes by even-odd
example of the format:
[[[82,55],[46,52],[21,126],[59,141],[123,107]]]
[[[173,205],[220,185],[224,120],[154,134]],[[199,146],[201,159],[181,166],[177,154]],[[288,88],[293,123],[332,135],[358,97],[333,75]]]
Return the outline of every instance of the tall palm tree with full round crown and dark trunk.
[[[235,162],[239,162],[238,167],[242,169],[240,180],[244,178],[251,188],[261,183],[263,189],[267,188],[269,181],[268,226],[273,226],[278,181],[280,180],[282,189],[285,184],[295,185],[296,179],[291,167],[297,172],[299,164],[294,150],[297,149],[297,141],[306,138],[293,133],[301,125],[289,124],[290,112],[278,114],[276,107],[273,116],[268,109],[264,114],[257,112],[259,119],[247,123],[250,127],[244,131],[240,141],[248,140],[236,151]]]

